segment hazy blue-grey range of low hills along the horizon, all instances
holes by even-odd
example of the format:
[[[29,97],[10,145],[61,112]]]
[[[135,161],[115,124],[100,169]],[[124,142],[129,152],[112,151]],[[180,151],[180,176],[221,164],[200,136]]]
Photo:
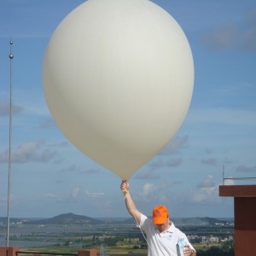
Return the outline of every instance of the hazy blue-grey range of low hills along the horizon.
[[[176,226],[181,225],[212,225],[216,223],[226,224],[227,221],[218,218],[172,218]],[[114,218],[90,218],[83,215],[77,215],[72,212],[57,215],[53,218],[44,218],[33,220],[32,218],[10,218],[11,224],[134,224],[133,218],[125,220],[116,220]],[[7,218],[0,217],[0,224],[7,224]]]

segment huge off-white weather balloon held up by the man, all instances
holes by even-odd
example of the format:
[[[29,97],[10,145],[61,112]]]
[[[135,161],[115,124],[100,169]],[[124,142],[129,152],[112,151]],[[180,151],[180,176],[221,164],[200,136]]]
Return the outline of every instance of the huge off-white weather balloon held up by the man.
[[[183,123],[194,65],[183,30],[156,4],[88,0],[56,28],[43,82],[67,138],[129,179]]]

